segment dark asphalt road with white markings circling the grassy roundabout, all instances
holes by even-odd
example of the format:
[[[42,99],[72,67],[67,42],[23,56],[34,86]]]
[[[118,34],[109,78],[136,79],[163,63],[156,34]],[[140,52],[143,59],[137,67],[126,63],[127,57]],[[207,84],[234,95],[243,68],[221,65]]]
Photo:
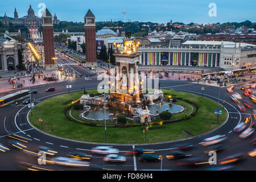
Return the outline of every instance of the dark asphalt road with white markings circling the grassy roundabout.
[[[61,60],[61,57],[59,57],[60,61],[65,62],[65,60]],[[72,65],[72,68],[75,69],[77,72],[86,73],[86,69],[84,70],[79,65]],[[72,88],[70,89],[70,92],[75,92],[77,90],[81,90],[83,87],[86,89],[95,89],[97,88],[97,85],[100,81],[97,80],[97,78],[89,78],[90,80],[85,80],[82,78],[72,78],[70,80],[70,84],[72,85]],[[39,91],[38,94],[35,94],[35,98],[37,102],[42,102],[46,100],[47,98],[56,96],[58,94],[68,93],[68,89],[66,88],[67,81],[63,82],[52,82],[51,84],[46,85],[38,85],[38,86],[32,86],[31,89],[36,89]],[[55,91],[54,92],[45,92],[46,88],[49,86],[54,86]],[[166,88],[166,89],[175,89],[180,90],[184,92],[191,92],[195,94],[199,94],[201,96],[201,85],[194,84],[187,81],[178,81],[178,80],[160,80],[160,87]],[[214,86],[207,86],[205,85],[204,90],[204,97],[208,97],[214,101],[218,101],[218,88]],[[15,90],[16,91],[16,90]],[[237,92],[241,92],[241,90],[234,90]],[[14,92],[14,90],[12,90]],[[8,92],[10,93],[10,92]],[[7,93],[1,93],[1,95],[4,95]],[[178,143],[187,143],[191,142],[193,143],[194,147],[191,150],[188,150],[187,152],[189,154],[192,154],[193,156],[197,156],[199,158],[203,158],[205,162],[208,162],[208,159],[210,156],[207,154],[204,154],[204,147],[202,147],[199,143],[203,141],[204,138],[212,137],[217,134],[226,135],[228,139],[223,142],[223,145],[228,146],[229,148],[226,148],[224,151],[221,151],[220,153],[217,153],[217,160],[222,159],[225,156],[233,155],[238,152],[248,152],[253,150],[255,146],[252,146],[249,144],[250,140],[255,138],[255,133],[247,139],[241,139],[238,137],[237,133],[234,133],[232,129],[241,122],[241,119],[244,117],[245,114],[251,114],[250,109],[246,109],[246,111],[243,113],[241,112],[236,104],[230,100],[228,92],[224,88],[221,88],[221,104],[222,100],[226,100],[226,103],[224,104],[225,108],[229,111],[229,118],[228,121],[222,125],[217,130],[214,130],[210,133],[201,135],[199,137],[193,137],[191,139],[185,139],[175,142],[163,142],[163,143],[157,143],[157,144],[109,144],[110,146],[113,146],[114,148],[118,148],[120,152],[120,155],[124,155],[127,157],[126,163],[121,164],[115,164],[115,163],[104,163],[102,155],[95,155],[90,153],[90,149],[94,146],[101,146],[102,144],[93,144],[93,143],[86,143],[86,142],[77,142],[77,141],[71,141],[61,138],[56,138],[49,136],[47,134],[41,133],[38,130],[35,130],[30,124],[27,122],[27,112],[28,107],[24,105],[9,105],[6,107],[2,107],[0,109],[0,143],[2,143],[4,146],[7,145],[7,141],[10,139],[8,135],[11,135],[13,137],[16,137],[15,135],[19,135],[20,137],[24,137],[23,140],[26,140],[28,142],[23,142],[28,150],[32,150],[36,146],[47,146],[52,148],[52,150],[57,151],[57,156],[66,156],[68,152],[70,151],[81,151],[85,152],[88,155],[92,155],[92,159],[90,160],[91,164],[97,164],[97,165],[105,165],[105,168],[109,169],[118,169],[118,170],[142,170],[142,169],[160,169],[161,163],[160,162],[140,162],[139,157],[135,155],[128,156],[125,154],[127,151],[132,151],[133,148],[147,148],[154,151],[155,155],[163,155],[163,161],[162,161],[162,169],[171,169],[171,170],[205,170],[210,167],[218,167],[220,164],[217,165],[210,165],[210,164],[201,164],[196,167],[189,167],[189,166],[179,166],[177,165],[177,160],[168,160],[165,156],[168,154],[171,148],[173,148],[174,144]],[[249,100],[249,98],[243,96],[245,100]],[[255,104],[254,104],[255,106]],[[217,108],[216,108],[217,109]],[[17,113],[19,113],[19,116],[17,116]],[[216,121],[213,121],[216,122]],[[15,135],[14,135],[15,134]],[[18,137],[19,138],[19,137]],[[106,146],[107,144],[103,144]],[[1,152],[0,151],[0,170],[20,170],[18,166],[19,161],[32,163],[35,165],[38,165],[37,163],[37,157],[31,156],[29,154],[25,154],[22,151],[10,148],[9,151]],[[47,158],[49,159],[49,158]],[[243,160],[241,163],[234,164],[235,170],[255,170],[255,158],[251,158],[250,156],[247,156],[245,160]],[[41,166],[42,167],[42,166]],[[53,164],[47,164],[43,165],[44,168],[47,169],[64,169],[64,170],[79,170],[79,169],[87,169],[87,168],[68,168],[63,166],[56,166]]]

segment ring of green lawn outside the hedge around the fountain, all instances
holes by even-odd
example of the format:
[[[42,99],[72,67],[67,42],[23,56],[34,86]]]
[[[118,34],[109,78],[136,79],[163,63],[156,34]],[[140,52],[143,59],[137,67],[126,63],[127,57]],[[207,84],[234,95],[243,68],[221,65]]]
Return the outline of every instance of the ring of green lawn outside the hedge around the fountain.
[[[96,93],[97,90],[87,90],[87,92],[91,94]],[[177,97],[183,97],[196,102],[199,105],[199,113],[195,115],[195,117],[185,121],[164,124],[163,129],[148,130],[146,133],[146,143],[164,142],[191,137],[185,134],[182,130],[188,130],[194,135],[203,134],[221,125],[227,117],[226,110],[220,106],[222,114],[220,114],[219,124],[217,125],[217,114],[214,114],[214,109],[217,109],[217,102],[186,92],[177,92],[175,90],[166,89],[163,89],[163,92],[167,95],[175,94]],[[36,105],[33,110],[37,110],[42,113],[43,131],[46,133],[63,138],[105,143],[104,127],[86,126],[69,121],[65,118],[63,109],[67,105],[63,105],[63,103],[69,100],[75,101],[79,99],[81,95],[82,92],[76,92],[52,97]],[[192,107],[190,104],[179,100],[177,100],[177,103],[186,106],[188,109],[187,112],[191,113]],[[193,109],[195,109],[195,107]],[[184,113],[175,114],[172,119],[180,117],[182,114]],[[31,114],[29,114],[29,119],[32,125],[41,129],[38,113],[32,112],[32,117]],[[106,143],[144,143],[144,134],[141,130],[143,127],[144,126],[123,128],[107,127]]]

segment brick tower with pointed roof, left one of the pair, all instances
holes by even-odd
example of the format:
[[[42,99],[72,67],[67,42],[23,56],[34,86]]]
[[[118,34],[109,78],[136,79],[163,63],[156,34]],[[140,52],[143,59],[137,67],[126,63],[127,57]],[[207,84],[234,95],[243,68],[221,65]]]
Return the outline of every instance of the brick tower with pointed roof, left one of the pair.
[[[42,27],[43,27],[43,40],[44,40],[44,61],[46,70],[54,70],[55,63],[53,57],[55,57],[54,40],[53,40],[53,22],[52,15],[46,9],[42,15]]]

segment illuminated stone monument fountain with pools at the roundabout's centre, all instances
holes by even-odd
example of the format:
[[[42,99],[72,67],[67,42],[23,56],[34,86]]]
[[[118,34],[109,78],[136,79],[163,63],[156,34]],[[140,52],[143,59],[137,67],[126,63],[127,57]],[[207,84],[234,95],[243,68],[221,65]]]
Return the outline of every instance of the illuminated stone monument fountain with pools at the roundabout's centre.
[[[131,121],[141,121],[142,123],[150,122],[151,118],[155,118],[160,112],[169,110],[172,113],[182,111],[181,106],[172,106],[163,101],[162,90],[155,89],[154,93],[142,94],[142,85],[140,84],[138,74],[139,43],[135,44],[131,38],[130,32],[126,32],[126,39],[123,40],[123,48],[121,45],[114,45],[117,52],[113,55],[116,61],[116,76],[114,81],[109,81],[112,85],[109,89],[109,96],[106,97],[106,115],[109,115],[108,121],[123,115]],[[111,73],[110,73],[111,74]],[[142,80],[143,81],[143,80]],[[90,105],[91,109],[82,113],[84,119],[103,121],[105,114],[104,98],[90,97],[85,93],[80,98],[80,103]],[[93,106],[94,105],[94,106]],[[95,106],[96,105],[96,106]],[[100,106],[100,107],[98,107]]]

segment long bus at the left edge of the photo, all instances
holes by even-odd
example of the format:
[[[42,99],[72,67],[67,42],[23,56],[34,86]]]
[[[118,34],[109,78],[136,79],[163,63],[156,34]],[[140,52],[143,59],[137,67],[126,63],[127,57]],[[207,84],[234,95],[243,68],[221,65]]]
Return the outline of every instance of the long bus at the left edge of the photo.
[[[30,90],[20,90],[19,92],[11,93],[9,95],[0,97],[0,107],[13,104],[17,100],[23,100],[27,97],[30,97]]]

